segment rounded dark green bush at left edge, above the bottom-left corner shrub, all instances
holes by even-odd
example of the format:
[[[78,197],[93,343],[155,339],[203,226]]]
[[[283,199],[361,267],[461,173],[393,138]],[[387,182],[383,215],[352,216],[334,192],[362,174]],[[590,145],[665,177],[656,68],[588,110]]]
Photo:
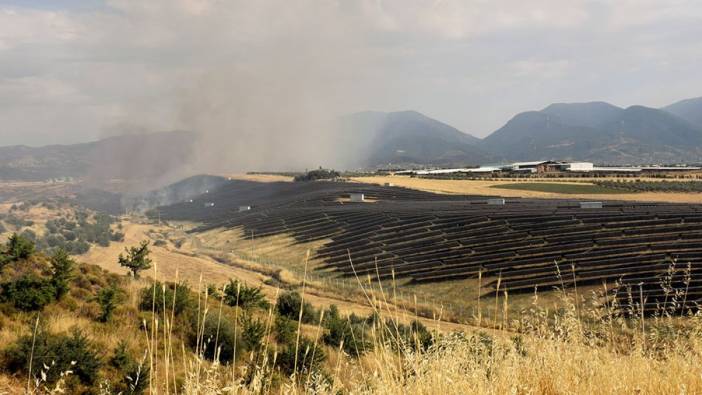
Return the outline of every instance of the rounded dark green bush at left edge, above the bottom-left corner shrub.
[[[26,275],[17,281],[0,285],[2,301],[12,303],[22,311],[41,310],[53,302],[56,289],[50,280]]]

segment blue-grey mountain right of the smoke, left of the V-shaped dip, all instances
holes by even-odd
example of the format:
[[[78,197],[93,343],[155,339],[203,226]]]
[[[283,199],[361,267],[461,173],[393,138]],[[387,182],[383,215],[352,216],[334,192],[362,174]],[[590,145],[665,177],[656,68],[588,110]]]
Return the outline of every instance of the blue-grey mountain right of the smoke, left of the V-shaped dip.
[[[416,111],[361,112],[340,120],[347,167],[466,165],[491,161],[480,139]]]

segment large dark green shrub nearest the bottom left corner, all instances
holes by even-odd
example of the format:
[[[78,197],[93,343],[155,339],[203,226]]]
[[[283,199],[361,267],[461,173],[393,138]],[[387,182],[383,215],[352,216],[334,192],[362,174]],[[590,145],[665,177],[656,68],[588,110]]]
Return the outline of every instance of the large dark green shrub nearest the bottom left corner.
[[[70,335],[39,331],[36,339],[31,334],[22,336],[8,346],[3,355],[5,369],[23,374],[29,372],[31,357],[32,374],[39,376],[43,371],[48,383],[55,383],[62,372],[70,370],[72,376],[82,383],[92,384],[101,364],[95,345],[78,330],[73,330]],[[50,369],[47,370],[44,366]]]

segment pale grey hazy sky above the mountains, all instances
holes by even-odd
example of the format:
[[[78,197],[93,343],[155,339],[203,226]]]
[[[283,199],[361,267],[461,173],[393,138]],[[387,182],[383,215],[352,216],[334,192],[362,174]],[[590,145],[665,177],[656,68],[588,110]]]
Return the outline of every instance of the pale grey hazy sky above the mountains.
[[[702,96],[700,37],[699,0],[0,0],[0,145],[371,109],[482,137],[551,102]]]

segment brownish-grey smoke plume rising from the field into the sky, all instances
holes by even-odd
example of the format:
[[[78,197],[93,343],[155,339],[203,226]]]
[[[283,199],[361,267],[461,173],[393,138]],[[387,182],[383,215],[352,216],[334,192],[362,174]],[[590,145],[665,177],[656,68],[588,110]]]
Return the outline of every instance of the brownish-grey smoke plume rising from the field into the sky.
[[[371,59],[360,21],[340,4],[201,10],[209,14],[193,27],[195,67],[174,103],[177,124],[197,135],[194,170],[344,165],[334,117],[368,93],[363,73]]]

